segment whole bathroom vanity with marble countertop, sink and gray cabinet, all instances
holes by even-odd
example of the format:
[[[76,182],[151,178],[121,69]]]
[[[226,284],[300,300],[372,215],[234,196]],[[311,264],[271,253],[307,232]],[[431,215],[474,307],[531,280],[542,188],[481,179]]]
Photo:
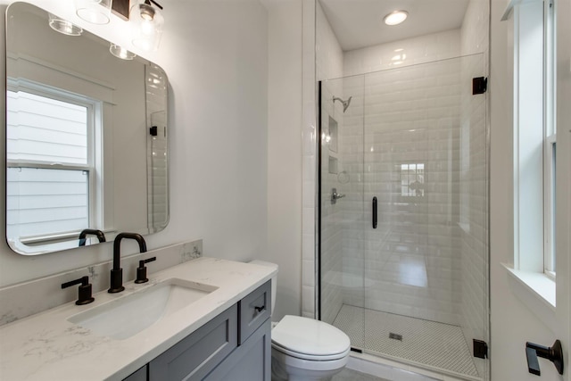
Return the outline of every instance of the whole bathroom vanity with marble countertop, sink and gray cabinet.
[[[269,380],[274,273],[254,264],[199,258],[150,274],[144,286],[128,282],[124,292],[95,294],[91,304],[70,302],[17,320],[0,327],[0,378]],[[147,308],[153,302],[145,297],[158,300],[154,290],[167,286],[172,293],[167,299],[178,305],[166,304],[148,327],[137,326],[152,315],[145,312],[141,319],[128,317],[127,330],[111,329],[113,323],[126,324],[120,321],[123,314],[138,307],[112,315],[114,320],[106,311],[136,306],[137,299]],[[194,288],[202,294],[188,304],[177,302]],[[94,320],[102,320],[101,327],[91,326]]]

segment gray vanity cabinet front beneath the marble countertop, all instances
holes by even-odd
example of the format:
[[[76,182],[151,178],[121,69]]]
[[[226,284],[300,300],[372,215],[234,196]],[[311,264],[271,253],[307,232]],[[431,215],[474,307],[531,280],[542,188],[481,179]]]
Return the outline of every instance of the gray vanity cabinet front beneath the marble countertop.
[[[124,381],[269,381],[270,296],[267,282]]]

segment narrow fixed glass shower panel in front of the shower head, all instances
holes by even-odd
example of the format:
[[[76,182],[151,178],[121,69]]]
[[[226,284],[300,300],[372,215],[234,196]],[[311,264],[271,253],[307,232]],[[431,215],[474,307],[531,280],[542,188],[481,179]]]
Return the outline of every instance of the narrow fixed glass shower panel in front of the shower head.
[[[354,348],[364,343],[363,84],[323,81],[320,110],[320,317]]]

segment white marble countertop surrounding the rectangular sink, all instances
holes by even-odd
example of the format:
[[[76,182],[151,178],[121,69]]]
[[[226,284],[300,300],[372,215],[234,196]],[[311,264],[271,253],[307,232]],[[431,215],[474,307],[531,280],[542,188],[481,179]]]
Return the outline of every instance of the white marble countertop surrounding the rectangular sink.
[[[263,285],[274,272],[248,263],[199,258],[150,272],[150,281],[143,285],[125,283],[119,294],[95,294],[90,304],[70,302],[14,321],[0,327],[0,379],[121,380]],[[95,335],[67,320],[171,277],[219,288],[124,340]]]

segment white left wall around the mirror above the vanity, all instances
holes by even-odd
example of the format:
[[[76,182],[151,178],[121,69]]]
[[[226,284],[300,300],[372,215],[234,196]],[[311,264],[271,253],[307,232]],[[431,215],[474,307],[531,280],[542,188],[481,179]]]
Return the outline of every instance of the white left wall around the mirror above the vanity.
[[[64,8],[69,2],[34,3],[77,19],[73,10]],[[164,5],[159,51],[135,50],[159,64],[170,79],[170,224],[145,237],[147,245],[156,248],[199,237],[206,255],[238,261],[261,258],[268,247],[267,12],[257,0]],[[111,25],[84,27],[120,43],[128,36],[124,24],[114,18]],[[0,62],[4,70],[4,59]],[[4,87],[0,94],[4,119]],[[2,170],[0,181],[4,175]],[[4,209],[4,190],[0,200]],[[4,221],[0,225],[4,230]],[[133,243],[123,244],[123,253],[136,250]],[[111,243],[31,258],[3,243],[0,286],[111,259]]]

